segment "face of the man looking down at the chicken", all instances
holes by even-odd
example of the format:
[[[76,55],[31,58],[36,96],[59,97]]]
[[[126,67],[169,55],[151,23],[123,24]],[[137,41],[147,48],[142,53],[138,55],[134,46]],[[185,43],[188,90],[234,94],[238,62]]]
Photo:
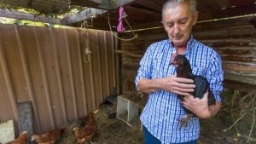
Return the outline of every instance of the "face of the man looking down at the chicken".
[[[182,3],[174,8],[164,9],[163,25],[173,46],[186,46],[196,20],[197,13],[192,14],[189,3]]]

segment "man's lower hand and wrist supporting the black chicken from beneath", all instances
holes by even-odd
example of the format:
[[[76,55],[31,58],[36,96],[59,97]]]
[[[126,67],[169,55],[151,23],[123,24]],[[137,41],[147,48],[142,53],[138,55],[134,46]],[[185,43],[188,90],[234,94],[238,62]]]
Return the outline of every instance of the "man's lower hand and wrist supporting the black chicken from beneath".
[[[194,98],[193,95],[187,95],[181,101],[183,107],[189,109],[198,118],[207,119],[214,116],[221,107],[221,103],[216,102],[215,105],[208,106],[208,91],[202,99]]]

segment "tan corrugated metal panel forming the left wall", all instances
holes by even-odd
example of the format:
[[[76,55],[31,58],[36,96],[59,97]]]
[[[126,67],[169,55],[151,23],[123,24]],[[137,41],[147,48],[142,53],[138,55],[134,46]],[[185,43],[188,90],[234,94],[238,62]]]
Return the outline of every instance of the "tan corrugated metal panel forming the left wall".
[[[32,101],[34,131],[44,132],[84,117],[116,93],[116,39],[90,30],[86,42],[92,53],[86,63],[84,33],[0,26],[0,121],[14,118],[17,124],[17,103]]]

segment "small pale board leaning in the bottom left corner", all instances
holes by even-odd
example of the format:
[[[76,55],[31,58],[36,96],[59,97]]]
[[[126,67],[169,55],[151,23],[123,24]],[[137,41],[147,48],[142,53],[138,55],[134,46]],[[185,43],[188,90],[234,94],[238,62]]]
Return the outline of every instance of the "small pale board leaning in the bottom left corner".
[[[15,140],[14,121],[9,120],[0,124],[0,143]]]

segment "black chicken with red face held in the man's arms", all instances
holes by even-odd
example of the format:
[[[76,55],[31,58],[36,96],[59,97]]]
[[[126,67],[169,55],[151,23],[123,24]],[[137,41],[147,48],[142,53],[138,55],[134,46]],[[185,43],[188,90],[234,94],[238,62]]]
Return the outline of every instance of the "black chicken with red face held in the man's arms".
[[[177,69],[177,77],[178,78],[189,78],[194,80],[195,89],[194,92],[191,93],[194,97],[203,98],[203,96],[207,93],[209,89],[209,84],[207,82],[207,78],[193,75],[192,69],[189,63],[189,60],[184,55],[176,55],[174,60],[171,62]],[[183,95],[177,95],[177,97],[183,101]],[[216,99],[212,94],[212,91],[208,90],[208,106],[215,105]],[[183,126],[186,126],[189,122],[189,119],[195,116],[192,112],[185,108],[185,111],[188,113],[184,118],[181,119],[181,123]]]

